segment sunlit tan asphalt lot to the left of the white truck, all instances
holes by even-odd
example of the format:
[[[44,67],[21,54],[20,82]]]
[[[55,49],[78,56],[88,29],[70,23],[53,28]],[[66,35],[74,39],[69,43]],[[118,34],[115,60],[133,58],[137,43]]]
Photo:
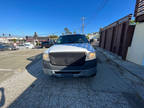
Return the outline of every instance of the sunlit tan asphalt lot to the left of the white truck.
[[[26,65],[35,55],[42,53],[44,50],[17,50],[0,52],[0,81],[14,74],[16,71],[25,69]],[[22,71],[21,71],[22,72]]]

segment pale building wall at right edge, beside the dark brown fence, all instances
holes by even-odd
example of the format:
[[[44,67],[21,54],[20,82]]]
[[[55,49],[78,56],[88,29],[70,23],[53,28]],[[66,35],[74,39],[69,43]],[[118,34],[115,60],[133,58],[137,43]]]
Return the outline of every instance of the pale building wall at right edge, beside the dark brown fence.
[[[136,25],[132,44],[128,49],[127,60],[144,65],[144,23]]]

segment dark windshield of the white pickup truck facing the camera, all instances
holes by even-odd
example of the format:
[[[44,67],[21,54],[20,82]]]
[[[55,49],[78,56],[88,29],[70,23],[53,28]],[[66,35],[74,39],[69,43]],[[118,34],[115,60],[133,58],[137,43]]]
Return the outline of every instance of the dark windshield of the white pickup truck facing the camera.
[[[60,36],[56,44],[69,44],[69,43],[88,43],[84,35],[66,35]]]

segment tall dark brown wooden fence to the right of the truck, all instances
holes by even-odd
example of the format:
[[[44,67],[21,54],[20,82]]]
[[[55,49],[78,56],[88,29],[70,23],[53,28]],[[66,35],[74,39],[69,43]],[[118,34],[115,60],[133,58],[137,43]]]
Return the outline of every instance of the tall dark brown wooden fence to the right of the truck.
[[[130,25],[132,15],[128,15],[104,28],[100,29],[101,48],[121,56],[124,60],[128,47],[131,45],[135,26]]]

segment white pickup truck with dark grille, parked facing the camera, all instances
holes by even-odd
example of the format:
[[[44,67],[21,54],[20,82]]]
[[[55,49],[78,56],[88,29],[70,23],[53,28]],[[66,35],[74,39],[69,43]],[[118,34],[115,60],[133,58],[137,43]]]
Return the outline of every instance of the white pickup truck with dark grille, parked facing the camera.
[[[50,76],[95,76],[96,66],[96,52],[84,35],[60,36],[43,53],[43,71]]]

